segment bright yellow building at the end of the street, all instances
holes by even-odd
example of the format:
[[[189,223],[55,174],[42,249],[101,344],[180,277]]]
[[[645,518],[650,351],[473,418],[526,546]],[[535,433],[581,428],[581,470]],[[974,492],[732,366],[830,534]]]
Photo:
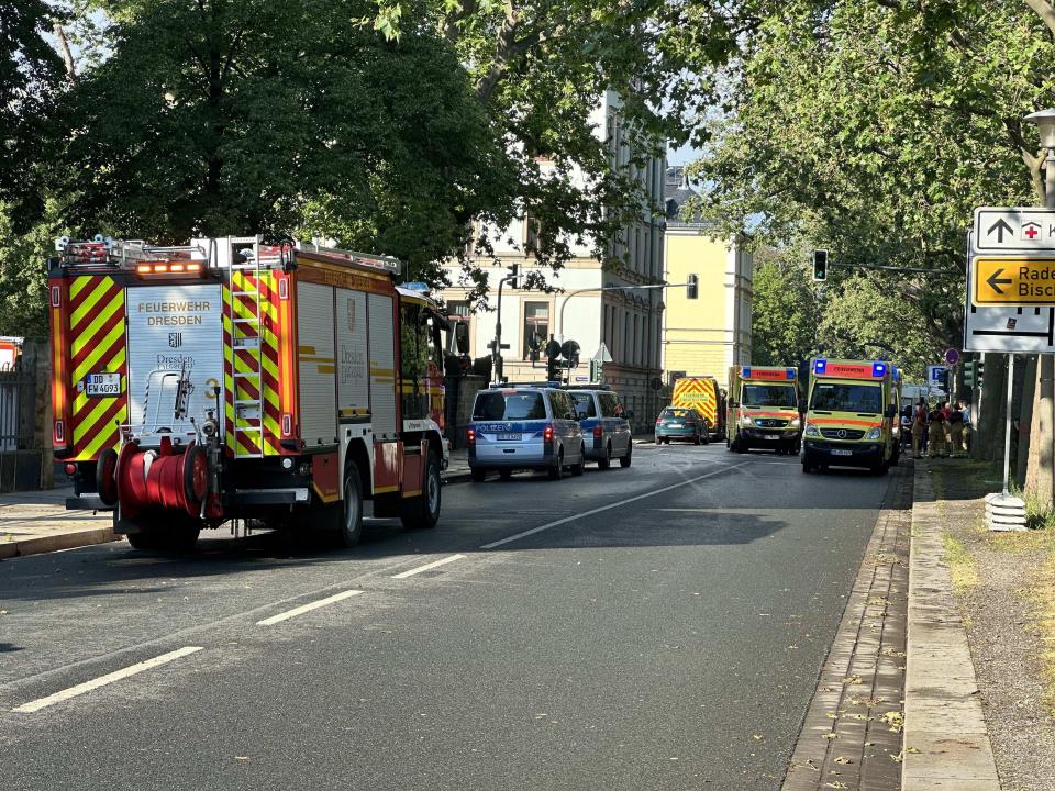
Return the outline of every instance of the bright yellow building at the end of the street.
[[[664,199],[664,277],[667,282],[699,279],[699,297],[667,289],[663,313],[663,369],[666,383],[680,376],[712,376],[726,387],[730,366],[751,363],[752,257],[735,239],[707,234],[708,225],[686,222],[681,207],[693,193],[684,168],[667,169]]]

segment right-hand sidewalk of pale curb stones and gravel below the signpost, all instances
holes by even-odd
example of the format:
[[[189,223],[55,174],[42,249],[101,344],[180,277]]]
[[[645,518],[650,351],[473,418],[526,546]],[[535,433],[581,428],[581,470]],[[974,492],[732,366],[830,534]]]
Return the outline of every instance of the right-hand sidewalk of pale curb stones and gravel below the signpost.
[[[988,532],[999,471],[917,464],[903,788],[1048,791],[1055,531]]]

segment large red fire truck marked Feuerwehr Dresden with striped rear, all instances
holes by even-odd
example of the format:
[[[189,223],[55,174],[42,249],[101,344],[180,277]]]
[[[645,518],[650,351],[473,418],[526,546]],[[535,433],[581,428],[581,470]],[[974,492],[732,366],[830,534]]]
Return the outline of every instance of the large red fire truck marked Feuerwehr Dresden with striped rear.
[[[442,333],[400,263],[259,237],[185,246],[62,238],[48,272],[55,456],[68,508],[137,548],[234,519],[324,526],[363,501],[440,517]]]

